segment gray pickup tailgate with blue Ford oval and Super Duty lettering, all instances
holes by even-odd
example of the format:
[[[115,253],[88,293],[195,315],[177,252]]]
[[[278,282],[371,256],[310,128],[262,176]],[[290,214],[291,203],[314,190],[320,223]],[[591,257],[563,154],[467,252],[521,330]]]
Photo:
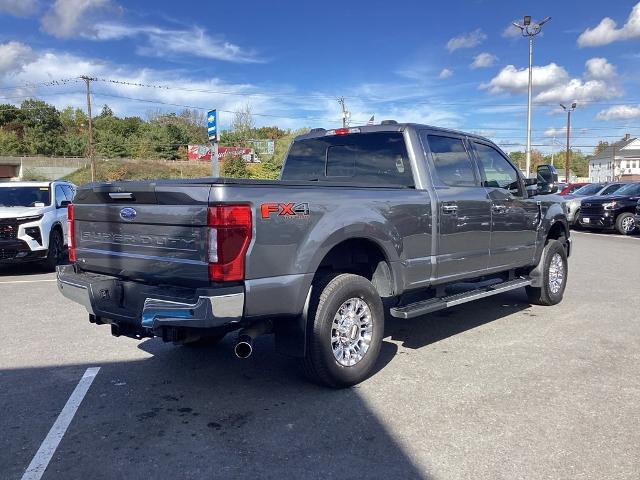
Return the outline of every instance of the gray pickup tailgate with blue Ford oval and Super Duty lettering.
[[[207,284],[210,189],[148,182],[81,189],[74,200],[77,264],[147,283]]]

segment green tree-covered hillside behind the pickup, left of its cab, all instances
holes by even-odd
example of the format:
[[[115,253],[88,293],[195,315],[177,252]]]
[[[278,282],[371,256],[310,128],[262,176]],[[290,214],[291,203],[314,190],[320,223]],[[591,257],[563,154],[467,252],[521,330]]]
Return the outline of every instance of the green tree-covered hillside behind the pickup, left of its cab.
[[[122,176],[117,174],[119,171],[126,172],[123,173],[129,175],[126,178],[146,178],[147,174],[153,173],[153,169],[140,168],[136,174],[131,162],[118,162],[119,159],[140,162],[187,160],[187,145],[208,143],[205,124],[205,113],[200,110],[150,111],[143,119],[118,117],[104,105],[99,115],[93,117],[93,145],[98,163],[101,159],[111,163],[108,168],[99,165],[98,176],[117,180]],[[19,107],[0,104],[0,155],[85,157],[88,154],[88,128],[89,119],[81,109],[67,107],[60,111],[35,99],[25,100]],[[251,147],[250,140],[274,140],[274,155],[263,155],[262,163],[256,165],[228,159],[222,162],[221,173],[233,177],[276,178],[291,140],[303,131],[282,130],[275,126],[255,127],[250,107],[244,107],[235,114],[231,128],[222,131],[220,145]],[[129,165],[123,166],[125,163]],[[111,173],[107,174],[107,171]],[[202,176],[206,167],[194,165],[193,172],[183,169],[183,176],[192,176],[190,174],[194,172]],[[171,175],[172,170],[164,174]],[[75,176],[86,177],[81,171]]]

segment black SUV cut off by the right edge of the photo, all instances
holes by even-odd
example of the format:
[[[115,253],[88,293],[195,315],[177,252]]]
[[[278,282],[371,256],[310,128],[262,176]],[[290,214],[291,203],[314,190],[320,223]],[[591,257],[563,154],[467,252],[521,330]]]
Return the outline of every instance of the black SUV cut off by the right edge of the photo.
[[[587,228],[615,229],[629,235],[636,229],[633,214],[640,199],[640,182],[629,183],[608,197],[582,200],[580,225]]]

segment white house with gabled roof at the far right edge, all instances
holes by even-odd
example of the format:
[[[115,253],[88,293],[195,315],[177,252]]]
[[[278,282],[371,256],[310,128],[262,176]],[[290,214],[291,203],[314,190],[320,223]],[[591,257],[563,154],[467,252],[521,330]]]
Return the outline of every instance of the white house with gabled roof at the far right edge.
[[[589,160],[591,182],[639,181],[640,139],[628,133]]]

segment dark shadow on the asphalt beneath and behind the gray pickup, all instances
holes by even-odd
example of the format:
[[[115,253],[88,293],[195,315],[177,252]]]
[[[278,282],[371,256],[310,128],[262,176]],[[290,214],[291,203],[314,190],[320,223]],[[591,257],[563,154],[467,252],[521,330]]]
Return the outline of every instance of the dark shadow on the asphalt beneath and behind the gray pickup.
[[[524,292],[510,292],[414,320],[389,319],[392,342],[383,342],[377,370],[393,360],[394,342],[417,349],[528,307]],[[297,360],[275,353],[270,336],[256,341],[247,360],[233,357],[232,334],[213,348],[115,341],[150,356],[100,365],[45,479],[430,478],[412,460],[429,452],[399,444],[385,425],[395,407],[381,406],[376,393],[390,388],[384,372],[330,390],[309,384]],[[0,471],[7,478],[20,478],[90,366],[0,370],[0,431],[8,432],[0,439]]]

